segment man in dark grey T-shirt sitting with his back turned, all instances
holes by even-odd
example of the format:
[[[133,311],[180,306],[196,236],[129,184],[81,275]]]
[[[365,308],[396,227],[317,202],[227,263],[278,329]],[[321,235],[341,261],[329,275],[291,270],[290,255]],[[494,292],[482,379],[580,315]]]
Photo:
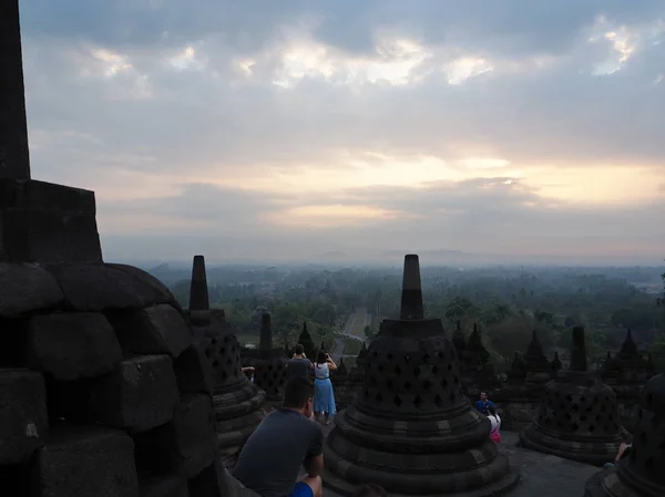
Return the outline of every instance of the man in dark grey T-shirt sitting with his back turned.
[[[313,423],[314,385],[294,377],[283,407],[268,414],[241,451],[233,476],[262,497],[321,497],[324,434]],[[304,466],[307,474],[297,480]]]

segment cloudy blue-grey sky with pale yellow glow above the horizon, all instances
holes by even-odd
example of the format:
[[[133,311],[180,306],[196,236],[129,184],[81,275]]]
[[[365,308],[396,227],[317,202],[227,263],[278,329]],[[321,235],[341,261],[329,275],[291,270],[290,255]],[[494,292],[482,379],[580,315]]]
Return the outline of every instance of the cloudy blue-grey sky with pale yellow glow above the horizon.
[[[665,257],[665,1],[21,0],[105,260]],[[443,256],[442,256],[443,257]]]

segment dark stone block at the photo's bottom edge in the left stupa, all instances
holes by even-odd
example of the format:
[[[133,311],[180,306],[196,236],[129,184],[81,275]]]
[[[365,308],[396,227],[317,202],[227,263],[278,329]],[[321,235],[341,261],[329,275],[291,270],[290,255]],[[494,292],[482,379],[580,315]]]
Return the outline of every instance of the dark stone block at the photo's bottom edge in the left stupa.
[[[137,497],[134,443],[105,427],[53,431],[38,452],[34,496]]]

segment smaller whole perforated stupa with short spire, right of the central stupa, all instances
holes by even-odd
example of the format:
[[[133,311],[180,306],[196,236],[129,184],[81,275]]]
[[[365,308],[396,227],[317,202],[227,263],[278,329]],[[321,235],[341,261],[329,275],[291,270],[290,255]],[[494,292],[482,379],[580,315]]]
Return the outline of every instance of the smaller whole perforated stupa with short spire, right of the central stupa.
[[[626,436],[614,391],[600,372],[586,371],[584,328],[575,327],[570,369],[544,385],[538,414],[520,441],[532,451],[603,465],[613,460]]]

